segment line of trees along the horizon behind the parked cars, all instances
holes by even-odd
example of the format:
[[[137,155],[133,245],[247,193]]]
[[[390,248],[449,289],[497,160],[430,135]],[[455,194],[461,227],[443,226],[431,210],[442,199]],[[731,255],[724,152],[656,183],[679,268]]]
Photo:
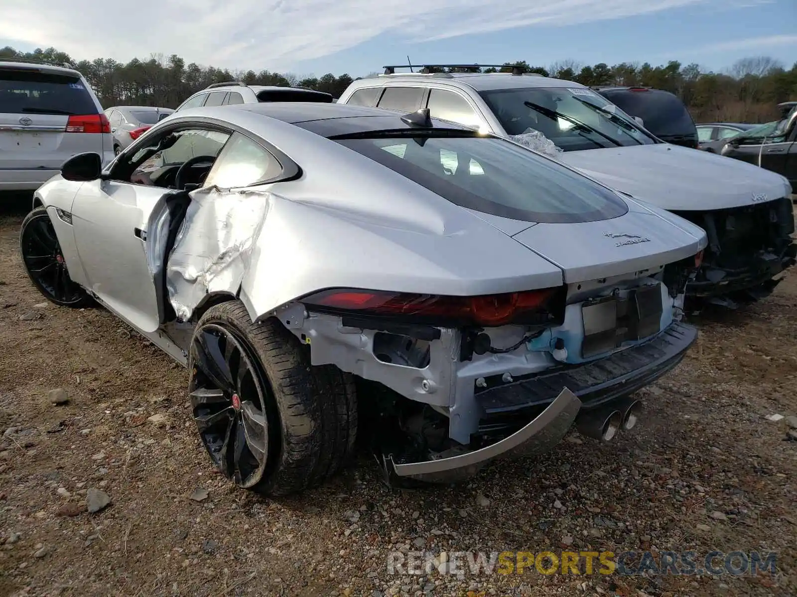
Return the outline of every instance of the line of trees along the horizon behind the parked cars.
[[[54,48],[26,53],[11,47],[0,49],[0,60],[10,58],[73,64],[83,73],[104,107],[125,104],[177,107],[192,93],[210,84],[231,80],[241,80],[250,85],[316,89],[337,98],[353,80],[347,73],[336,76],[328,72],[320,77],[300,77],[290,72],[268,70],[230,71],[194,62],[186,64],[176,54],[170,57],[152,55],[147,60],[134,58],[123,64],[112,58],[75,62],[69,54]],[[778,103],[797,99],[797,63],[787,69],[771,57],[744,58],[725,72],[705,72],[698,64],[683,65],[677,60],[659,66],[647,62],[584,65],[575,60],[563,60],[548,67],[520,60],[505,63],[500,69],[483,70],[510,72],[513,67],[590,86],[628,85],[664,89],[681,98],[697,122],[768,122],[778,118]]]

